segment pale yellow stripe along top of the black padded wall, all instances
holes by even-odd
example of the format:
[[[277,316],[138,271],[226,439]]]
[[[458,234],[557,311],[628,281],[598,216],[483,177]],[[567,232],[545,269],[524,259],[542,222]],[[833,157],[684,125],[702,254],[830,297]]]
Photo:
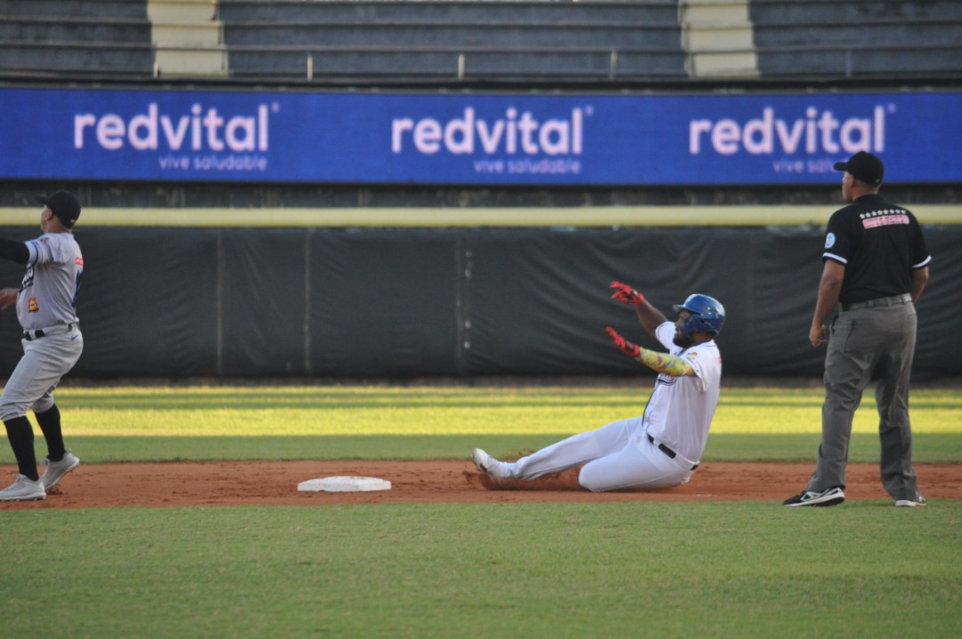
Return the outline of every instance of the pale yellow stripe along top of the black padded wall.
[[[962,224],[962,205],[905,205],[923,224]],[[85,208],[81,226],[821,226],[837,207]],[[0,226],[38,226],[37,207],[0,207]]]

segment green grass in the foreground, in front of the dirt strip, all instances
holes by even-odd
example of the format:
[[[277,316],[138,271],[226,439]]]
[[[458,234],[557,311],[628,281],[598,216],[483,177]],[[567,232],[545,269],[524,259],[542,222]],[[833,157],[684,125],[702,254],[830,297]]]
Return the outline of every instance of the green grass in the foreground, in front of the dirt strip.
[[[962,502],[0,513],[4,636],[955,637]]]

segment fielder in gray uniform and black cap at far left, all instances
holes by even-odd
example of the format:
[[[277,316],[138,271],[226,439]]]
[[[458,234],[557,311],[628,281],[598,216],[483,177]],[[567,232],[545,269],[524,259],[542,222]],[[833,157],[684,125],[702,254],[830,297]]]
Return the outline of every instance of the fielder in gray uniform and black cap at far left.
[[[60,411],[53,396],[84,349],[76,310],[84,257],[73,238],[80,203],[65,191],[37,200],[44,205],[43,235],[26,243],[0,239],[0,258],[27,265],[19,289],[0,290],[0,310],[16,304],[16,317],[23,327],[23,357],[0,395],[0,420],[7,426],[19,472],[12,486],[0,491],[0,501],[46,498],[64,474],[80,465],[80,459],[63,447]],[[28,409],[34,411],[47,442],[49,454],[40,462],[46,467],[42,477]]]

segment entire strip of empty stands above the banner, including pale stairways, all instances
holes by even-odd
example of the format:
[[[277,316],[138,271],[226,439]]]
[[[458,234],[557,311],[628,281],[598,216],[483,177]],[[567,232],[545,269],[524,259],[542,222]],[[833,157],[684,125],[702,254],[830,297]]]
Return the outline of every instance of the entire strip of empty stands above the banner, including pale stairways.
[[[0,78],[959,77],[958,0],[4,0]]]

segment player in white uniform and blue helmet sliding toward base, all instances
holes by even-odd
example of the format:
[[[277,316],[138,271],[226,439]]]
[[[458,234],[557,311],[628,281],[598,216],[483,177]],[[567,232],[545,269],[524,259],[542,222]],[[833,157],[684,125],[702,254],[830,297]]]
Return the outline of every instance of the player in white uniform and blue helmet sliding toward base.
[[[594,491],[658,490],[684,484],[698,466],[718,405],[722,356],[715,336],[724,307],[708,295],[692,294],[673,306],[671,322],[631,287],[612,282],[612,295],[635,307],[649,335],[668,348],[659,353],[632,344],[608,327],[620,350],[658,371],[645,413],[569,437],[516,462],[502,462],[480,448],[473,460],[495,479],[536,479],[584,465],[582,487]]]

